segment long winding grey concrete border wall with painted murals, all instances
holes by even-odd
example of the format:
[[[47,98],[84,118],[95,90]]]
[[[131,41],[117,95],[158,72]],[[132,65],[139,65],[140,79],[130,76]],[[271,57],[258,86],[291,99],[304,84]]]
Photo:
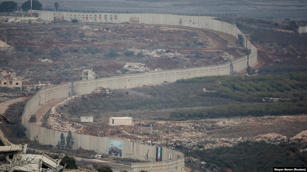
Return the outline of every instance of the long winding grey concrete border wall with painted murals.
[[[53,12],[48,11],[36,11],[39,13],[39,16],[43,20],[53,20]],[[56,13],[57,17],[61,19],[61,16],[76,15],[79,13]],[[83,14],[82,14],[83,15]],[[81,15],[81,16],[82,16]],[[100,15],[97,14],[85,14],[85,15]],[[107,15],[110,17],[112,15],[115,18],[112,19],[113,23],[144,23],[144,24],[165,24],[165,25],[182,25],[187,27],[197,27],[204,29],[211,29],[226,34],[230,34],[237,38],[238,34],[243,35],[237,27],[232,24],[213,20],[212,17],[202,17],[202,16],[180,16],[172,14],[110,14],[105,13],[101,14],[103,17]],[[108,21],[99,20],[99,17],[96,18],[96,21],[92,18],[92,21],[82,22],[110,22],[110,18],[107,18]],[[66,20],[66,19],[63,19]],[[99,20],[99,21],[98,21]],[[251,50],[251,54],[248,56],[243,56],[233,61],[234,71],[240,71],[247,68],[247,62],[250,66],[255,65],[257,62],[257,49],[244,37],[245,47]],[[137,73],[122,75],[117,77],[108,77],[101,78],[97,80],[81,80],[74,82],[75,91],[78,95],[84,95],[92,92],[98,87],[103,88],[134,88],[142,87],[143,85],[155,85],[163,83],[164,81],[172,82],[178,79],[187,79],[193,77],[203,77],[203,76],[213,76],[213,75],[229,75],[230,74],[230,62],[222,65],[214,66],[205,66],[197,68],[187,68],[187,69],[173,69],[173,70],[162,70],[154,71],[150,73]],[[38,110],[42,104],[48,103],[57,99],[64,99],[69,96],[70,83],[64,83],[60,85],[55,85],[51,87],[44,88],[38,91],[25,105],[25,110],[22,114],[22,124],[27,128],[27,137],[31,140],[34,140],[34,136],[38,136],[39,140],[43,144],[52,144],[56,145],[57,141],[60,140],[60,134],[62,132],[46,129],[37,125],[33,125],[27,121],[29,115],[33,114]],[[64,136],[67,136],[68,133],[64,133]],[[97,151],[99,153],[108,154],[109,147],[111,144],[118,143],[121,144],[122,157],[125,158],[135,158],[145,160],[146,152],[148,151],[148,163],[134,163],[131,166],[131,169],[126,169],[128,171],[138,172],[140,170],[147,171],[184,171],[184,155],[181,152],[174,151],[168,148],[162,148],[162,162],[155,162],[156,159],[156,147],[133,143],[129,140],[121,139],[112,139],[109,137],[98,137],[98,136],[89,136],[79,133],[73,133],[74,137],[74,149],[84,148]],[[132,151],[134,150],[134,151]],[[134,153],[132,153],[134,152]],[[172,159],[169,159],[169,156],[172,156]],[[114,169],[113,171],[119,171],[120,169]]]

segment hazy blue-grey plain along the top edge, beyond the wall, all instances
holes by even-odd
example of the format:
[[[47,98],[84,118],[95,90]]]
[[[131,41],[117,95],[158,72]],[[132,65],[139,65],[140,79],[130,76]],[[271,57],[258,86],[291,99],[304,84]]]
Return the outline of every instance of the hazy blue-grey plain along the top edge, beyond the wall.
[[[20,7],[25,0],[15,0]],[[306,0],[39,0],[46,11],[80,13],[168,13],[193,16],[242,16],[270,20],[306,20]]]

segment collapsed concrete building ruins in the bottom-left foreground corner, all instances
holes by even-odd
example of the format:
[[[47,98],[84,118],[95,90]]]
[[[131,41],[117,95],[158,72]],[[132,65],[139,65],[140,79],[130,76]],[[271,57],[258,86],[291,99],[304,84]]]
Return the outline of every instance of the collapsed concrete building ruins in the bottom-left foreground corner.
[[[14,145],[0,130],[0,171],[1,172],[63,172],[61,160],[54,160],[42,154],[26,154],[27,144]]]

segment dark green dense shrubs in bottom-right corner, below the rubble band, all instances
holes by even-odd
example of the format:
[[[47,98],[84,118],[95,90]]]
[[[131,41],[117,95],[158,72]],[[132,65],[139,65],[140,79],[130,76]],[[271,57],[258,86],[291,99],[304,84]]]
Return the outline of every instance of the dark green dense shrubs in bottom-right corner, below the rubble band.
[[[219,171],[272,171],[273,166],[305,167],[307,156],[302,155],[297,147],[292,144],[244,142],[231,148],[186,151],[185,155],[206,162],[206,167],[220,168]]]

